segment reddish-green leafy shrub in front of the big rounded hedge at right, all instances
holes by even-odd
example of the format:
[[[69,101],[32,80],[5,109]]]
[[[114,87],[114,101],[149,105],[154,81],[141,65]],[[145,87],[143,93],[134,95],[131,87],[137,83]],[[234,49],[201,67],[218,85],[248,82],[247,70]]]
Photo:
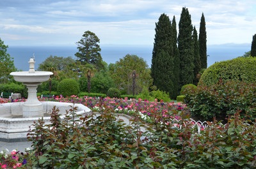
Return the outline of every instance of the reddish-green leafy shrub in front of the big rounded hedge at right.
[[[200,120],[211,121],[213,117],[225,121],[228,115],[237,112],[244,119],[256,118],[256,84],[248,82],[219,82],[200,85],[186,95],[186,104],[191,114]]]

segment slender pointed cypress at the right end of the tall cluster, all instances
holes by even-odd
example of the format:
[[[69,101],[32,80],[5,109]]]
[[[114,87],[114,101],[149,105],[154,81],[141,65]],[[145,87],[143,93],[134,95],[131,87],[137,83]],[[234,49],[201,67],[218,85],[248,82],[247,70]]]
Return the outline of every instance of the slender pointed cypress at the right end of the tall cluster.
[[[206,46],[206,31],[205,31],[205,18],[202,13],[199,29],[199,54],[202,68],[207,68],[207,46]]]

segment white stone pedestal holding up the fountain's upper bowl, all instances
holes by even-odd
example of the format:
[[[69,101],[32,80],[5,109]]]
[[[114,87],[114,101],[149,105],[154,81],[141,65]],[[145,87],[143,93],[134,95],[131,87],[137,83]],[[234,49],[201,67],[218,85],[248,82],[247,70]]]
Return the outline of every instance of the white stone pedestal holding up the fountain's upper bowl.
[[[41,83],[24,83],[28,87],[28,99],[24,103],[22,111],[23,117],[43,117],[43,105],[36,97],[36,88]]]

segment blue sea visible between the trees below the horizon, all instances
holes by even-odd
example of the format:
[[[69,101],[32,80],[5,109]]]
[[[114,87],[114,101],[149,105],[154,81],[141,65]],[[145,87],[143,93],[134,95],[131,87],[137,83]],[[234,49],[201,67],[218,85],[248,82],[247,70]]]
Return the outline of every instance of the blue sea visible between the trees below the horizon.
[[[143,58],[150,68],[152,60],[153,45],[100,45],[101,56],[103,61],[115,63],[125,55],[137,55]],[[214,62],[226,61],[244,55],[245,52],[251,50],[251,44],[222,44],[207,46],[207,66],[211,66]],[[20,71],[28,71],[28,61],[31,57],[35,57],[35,69],[38,65],[49,56],[73,57],[78,52],[76,46],[11,46],[8,45],[7,53],[13,57],[15,67]]]

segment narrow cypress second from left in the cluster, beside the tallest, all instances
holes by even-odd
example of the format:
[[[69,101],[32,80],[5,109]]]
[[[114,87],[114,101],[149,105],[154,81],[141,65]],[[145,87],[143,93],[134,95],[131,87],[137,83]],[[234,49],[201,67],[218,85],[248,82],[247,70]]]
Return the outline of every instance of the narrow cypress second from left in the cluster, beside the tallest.
[[[173,99],[179,95],[179,80],[180,80],[180,55],[179,48],[177,47],[177,26],[175,16],[172,19],[172,34],[173,34]]]

